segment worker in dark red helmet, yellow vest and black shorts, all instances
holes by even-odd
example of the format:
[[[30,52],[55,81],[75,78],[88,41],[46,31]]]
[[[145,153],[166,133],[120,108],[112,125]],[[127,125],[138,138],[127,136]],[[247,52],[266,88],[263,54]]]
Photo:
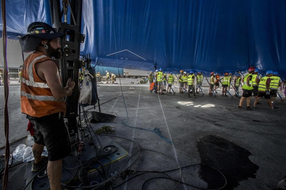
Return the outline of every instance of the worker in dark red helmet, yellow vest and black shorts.
[[[250,99],[252,96],[252,74],[255,71],[254,67],[249,67],[248,68],[248,74],[245,75],[245,77],[243,78],[243,86],[242,86],[242,97],[240,99],[239,102],[239,106],[237,107],[237,109],[243,109],[242,104],[243,101],[245,100],[245,98],[247,98],[247,110],[252,110],[252,108],[250,107]]]

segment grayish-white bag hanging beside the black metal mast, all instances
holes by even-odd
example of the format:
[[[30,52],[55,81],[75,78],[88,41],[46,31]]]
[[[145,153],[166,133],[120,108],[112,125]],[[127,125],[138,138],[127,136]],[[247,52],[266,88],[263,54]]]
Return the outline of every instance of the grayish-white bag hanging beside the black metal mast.
[[[82,82],[82,89],[80,90],[80,97],[78,102],[80,104],[89,104],[92,102],[92,79],[94,76],[88,71],[84,71],[84,81]]]

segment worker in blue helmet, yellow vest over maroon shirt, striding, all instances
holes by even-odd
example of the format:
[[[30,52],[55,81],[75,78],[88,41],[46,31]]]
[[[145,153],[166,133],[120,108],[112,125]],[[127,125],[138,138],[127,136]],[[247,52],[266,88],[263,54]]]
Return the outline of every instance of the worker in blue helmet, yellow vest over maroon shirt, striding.
[[[271,103],[271,95],[270,95],[270,87],[271,87],[271,77],[273,75],[272,70],[266,71],[266,76],[261,78],[261,81],[259,82],[258,85],[258,97],[255,99],[253,108],[258,109],[256,107],[257,102],[261,99],[261,97],[264,97],[267,99],[267,103],[270,106],[271,110],[278,109],[278,107],[274,107]]]

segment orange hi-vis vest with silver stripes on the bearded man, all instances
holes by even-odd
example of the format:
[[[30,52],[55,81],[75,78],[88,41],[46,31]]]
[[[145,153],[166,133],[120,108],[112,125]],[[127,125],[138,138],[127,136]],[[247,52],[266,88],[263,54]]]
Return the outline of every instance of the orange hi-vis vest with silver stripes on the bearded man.
[[[22,68],[21,112],[33,117],[42,117],[57,112],[65,114],[66,111],[65,100],[53,97],[47,82],[43,81],[35,71],[35,63],[45,60],[53,59],[43,52],[35,51],[25,59]]]

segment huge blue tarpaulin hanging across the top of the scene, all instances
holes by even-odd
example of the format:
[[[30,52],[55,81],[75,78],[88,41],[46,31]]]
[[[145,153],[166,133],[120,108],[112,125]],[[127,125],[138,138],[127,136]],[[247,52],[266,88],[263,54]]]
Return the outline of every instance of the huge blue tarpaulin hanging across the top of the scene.
[[[51,24],[48,0],[6,2],[9,38]],[[285,0],[84,0],[82,13],[81,52],[98,66],[286,74]]]

